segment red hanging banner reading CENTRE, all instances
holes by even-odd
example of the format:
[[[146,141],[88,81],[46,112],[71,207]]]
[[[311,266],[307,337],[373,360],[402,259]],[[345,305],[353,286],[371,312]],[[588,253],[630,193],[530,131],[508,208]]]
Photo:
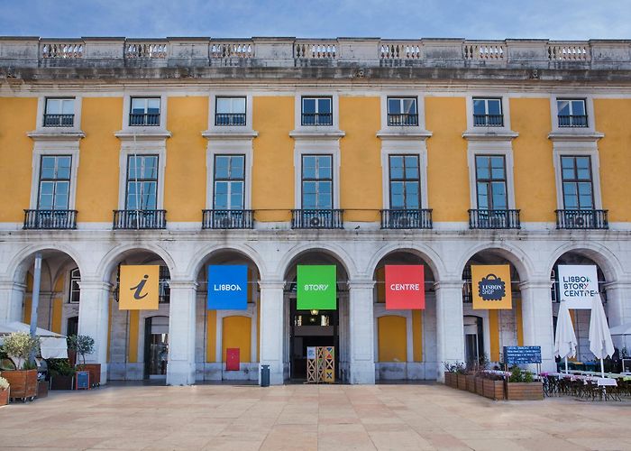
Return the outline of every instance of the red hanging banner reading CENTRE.
[[[425,308],[425,269],[422,264],[386,265],[386,309]]]

